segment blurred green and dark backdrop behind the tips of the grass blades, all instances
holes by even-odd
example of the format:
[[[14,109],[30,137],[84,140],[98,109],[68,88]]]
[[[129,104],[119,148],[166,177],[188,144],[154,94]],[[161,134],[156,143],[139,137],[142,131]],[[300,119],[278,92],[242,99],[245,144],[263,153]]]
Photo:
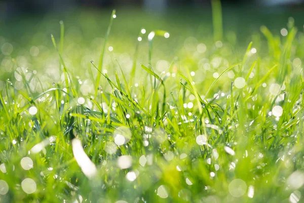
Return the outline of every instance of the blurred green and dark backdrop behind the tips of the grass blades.
[[[233,55],[234,57],[230,57],[235,59],[233,62],[242,57],[250,41],[265,41],[259,35],[261,25],[280,33],[281,29],[287,27],[288,18],[292,16],[291,23],[300,30],[303,29],[304,1],[301,0],[221,2],[223,40],[235,48],[234,53],[226,50],[223,52]],[[127,73],[131,69],[131,58],[141,28],[145,28],[147,33],[158,29],[170,33],[169,40],[160,38],[154,42],[156,51],[152,65],[157,67],[159,64],[159,71],[165,69],[180,52],[194,51],[201,43],[207,48],[214,43],[209,0],[2,0],[1,79],[9,78],[14,66],[12,57],[17,59],[19,66],[34,66],[35,69],[47,70],[48,74],[54,72],[55,76],[52,76],[51,80],[56,82],[59,77],[59,59],[56,57],[50,35],[53,34],[59,39],[60,20],[65,24],[65,60],[71,70],[80,74],[79,70],[87,69],[90,60],[98,60],[113,8],[117,9],[117,19],[112,26],[107,45],[113,47],[115,58],[121,59]],[[146,37],[147,34],[143,36],[140,47],[141,63],[147,61]],[[263,51],[266,50],[261,49],[260,53]],[[241,55],[238,55],[239,53]],[[107,53],[106,59],[105,67],[112,63]]]

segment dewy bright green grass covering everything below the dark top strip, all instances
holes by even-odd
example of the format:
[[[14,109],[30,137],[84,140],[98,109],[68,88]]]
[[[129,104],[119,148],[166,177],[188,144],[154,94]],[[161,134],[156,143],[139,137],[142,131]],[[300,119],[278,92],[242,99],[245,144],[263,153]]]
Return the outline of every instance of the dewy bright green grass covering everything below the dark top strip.
[[[2,23],[0,202],[301,202],[302,25],[237,40],[214,3],[214,35],[119,10]]]

